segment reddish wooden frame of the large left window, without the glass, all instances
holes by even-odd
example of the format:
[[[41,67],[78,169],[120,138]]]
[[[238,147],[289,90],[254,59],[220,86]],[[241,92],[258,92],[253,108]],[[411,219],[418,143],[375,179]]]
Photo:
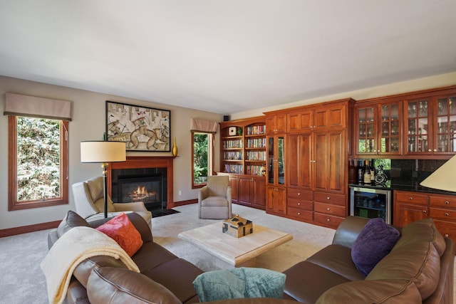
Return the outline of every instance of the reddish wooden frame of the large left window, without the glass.
[[[40,118],[40,117],[34,117]],[[48,119],[48,118],[45,118]],[[55,119],[59,120],[59,119]],[[17,116],[8,117],[8,211],[68,204],[68,120],[60,120],[60,194],[46,200],[17,201]]]

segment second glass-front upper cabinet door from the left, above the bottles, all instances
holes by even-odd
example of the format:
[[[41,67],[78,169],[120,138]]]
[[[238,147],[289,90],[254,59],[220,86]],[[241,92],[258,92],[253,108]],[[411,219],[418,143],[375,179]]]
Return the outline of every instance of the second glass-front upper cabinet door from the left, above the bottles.
[[[402,105],[402,104],[401,104]],[[402,107],[398,103],[383,104],[380,107],[380,134],[378,154],[400,154],[400,119]]]

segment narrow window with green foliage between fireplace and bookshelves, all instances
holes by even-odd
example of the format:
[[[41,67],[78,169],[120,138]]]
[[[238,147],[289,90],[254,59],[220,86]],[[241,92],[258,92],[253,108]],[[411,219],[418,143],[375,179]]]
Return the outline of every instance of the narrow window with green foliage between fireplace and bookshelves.
[[[213,172],[214,135],[192,132],[192,188],[203,187]]]

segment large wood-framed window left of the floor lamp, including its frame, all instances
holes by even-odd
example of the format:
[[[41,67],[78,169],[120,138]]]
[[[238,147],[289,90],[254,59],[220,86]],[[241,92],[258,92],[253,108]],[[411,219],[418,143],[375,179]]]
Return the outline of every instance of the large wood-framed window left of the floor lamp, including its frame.
[[[9,116],[8,209],[68,204],[68,121]]]

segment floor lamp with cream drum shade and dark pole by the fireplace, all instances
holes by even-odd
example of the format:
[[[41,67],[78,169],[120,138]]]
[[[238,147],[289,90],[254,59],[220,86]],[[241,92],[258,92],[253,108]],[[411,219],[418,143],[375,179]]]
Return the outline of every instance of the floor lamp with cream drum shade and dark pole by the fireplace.
[[[125,142],[86,141],[81,142],[81,162],[98,162],[103,168],[103,199],[105,218],[108,217],[108,190],[106,175],[109,162],[125,162]]]

